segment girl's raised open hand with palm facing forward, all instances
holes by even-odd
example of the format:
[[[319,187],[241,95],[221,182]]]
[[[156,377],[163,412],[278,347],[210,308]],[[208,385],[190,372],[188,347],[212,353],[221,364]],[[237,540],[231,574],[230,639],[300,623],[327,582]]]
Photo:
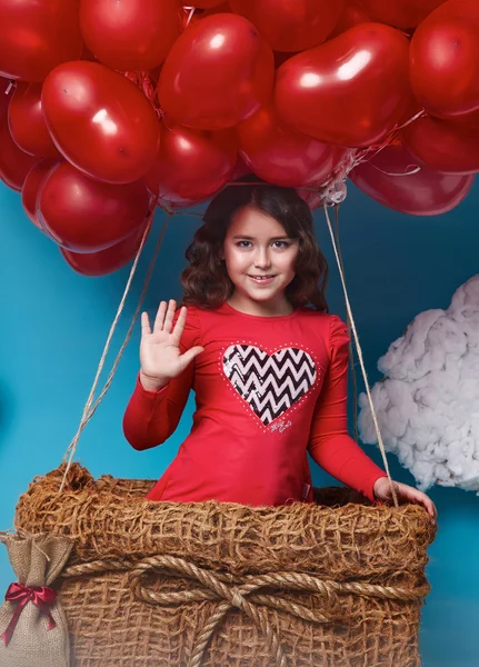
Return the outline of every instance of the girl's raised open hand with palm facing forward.
[[[187,321],[183,306],[173,327],[177,303],[173,299],[161,301],[153,330],[147,312],[141,313],[140,379],[146,389],[156,391],[179,376],[204,348],[194,346],[183,355],[180,350],[181,335]]]

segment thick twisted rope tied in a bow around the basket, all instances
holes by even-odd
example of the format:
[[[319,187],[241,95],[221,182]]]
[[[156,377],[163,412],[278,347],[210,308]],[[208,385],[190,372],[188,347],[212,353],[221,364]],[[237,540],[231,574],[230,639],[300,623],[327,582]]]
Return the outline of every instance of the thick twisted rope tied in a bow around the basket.
[[[212,573],[183,558],[174,556],[151,556],[143,560],[96,560],[68,567],[62,577],[91,576],[106,571],[128,571],[128,580],[133,596],[150,605],[181,605],[192,601],[219,601],[211,616],[206,621],[194,638],[188,667],[200,667],[203,664],[208,645],[219,629],[220,624],[231,609],[240,609],[256,624],[267,640],[267,647],[276,660],[277,667],[287,667],[283,647],[278,634],[268,620],[266,607],[278,609],[292,617],[309,620],[316,624],[345,624],[347,615],[341,608],[340,595],[359,595],[400,601],[420,601],[428,595],[430,586],[406,589],[395,586],[380,586],[378,584],[365,584],[362,581],[338,583],[320,579],[303,573],[268,573],[265,575],[250,575],[239,583],[231,575]],[[201,587],[192,590],[180,590],[172,593],[157,593],[149,590],[142,585],[143,578],[152,573],[169,573],[176,576],[187,576],[198,581]],[[261,594],[261,588],[275,587],[275,594]],[[319,595],[325,603],[327,611],[313,605],[308,609],[293,600],[283,597],[286,591],[307,591]]]

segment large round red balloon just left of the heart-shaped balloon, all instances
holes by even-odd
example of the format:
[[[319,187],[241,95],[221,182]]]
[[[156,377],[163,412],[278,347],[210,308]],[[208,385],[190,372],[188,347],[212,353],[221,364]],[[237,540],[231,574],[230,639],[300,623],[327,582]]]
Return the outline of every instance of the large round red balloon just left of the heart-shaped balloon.
[[[176,122],[201,130],[231,128],[271,94],[271,49],[243,17],[201,19],[177,39],[161,70],[160,104]]]

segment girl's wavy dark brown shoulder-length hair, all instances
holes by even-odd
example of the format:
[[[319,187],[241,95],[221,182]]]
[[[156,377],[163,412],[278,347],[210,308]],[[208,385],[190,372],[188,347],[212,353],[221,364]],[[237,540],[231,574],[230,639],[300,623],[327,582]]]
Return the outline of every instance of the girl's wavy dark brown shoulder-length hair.
[[[181,273],[184,289],[181,303],[212,310],[232,295],[234,285],[220,259],[220,251],[233,215],[251,206],[278,220],[289,238],[299,239],[296,275],[285,291],[289,302],[293,307],[310,303],[317,310],[328,312],[325,296],[328,262],[316,240],[309,206],[293,188],[281,188],[253,178],[248,185],[227,186],[208,206],[203,225],[186,251],[189,266]],[[251,177],[241,182],[248,180]]]

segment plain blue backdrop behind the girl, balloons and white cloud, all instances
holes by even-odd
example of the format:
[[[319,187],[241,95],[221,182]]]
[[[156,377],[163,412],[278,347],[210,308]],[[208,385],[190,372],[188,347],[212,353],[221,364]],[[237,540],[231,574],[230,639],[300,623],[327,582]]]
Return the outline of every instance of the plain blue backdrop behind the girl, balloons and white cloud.
[[[408,217],[350,187],[341,208],[341,245],[371,382],[380,377],[377,359],[408,322],[428,308],[447,308],[455,289],[479,271],[478,206],[479,185],[446,216]],[[7,529],[19,495],[36,475],[60,464],[77,430],[128,269],[94,279],[74,273],[23,215],[19,195],[2,185],[0,221],[0,528]],[[161,223],[158,216],[103,378],[131,321]],[[159,300],[180,297],[184,248],[199,223],[193,217],[171,220],[146,301],[150,313]],[[331,311],[345,316],[322,215],[317,230],[331,266]],[[191,399],[177,432],[161,448],[140,454],[126,442],[121,418],[138,370],[138,329],[80,439],[77,460],[94,476],[158,478],[190,428]],[[366,450],[380,464],[376,447]],[[390,464],[396,479],[413,484],[392,455]],[[312,469],[316,485],[331,482],[316,465]],[[439,532],[429,551],[432,591],[422,616],[423,666],[477,667],[479,499],[445,488],[433,488],[430,496],[439,509]],[[2,549],[0,595],[11,580]]]

